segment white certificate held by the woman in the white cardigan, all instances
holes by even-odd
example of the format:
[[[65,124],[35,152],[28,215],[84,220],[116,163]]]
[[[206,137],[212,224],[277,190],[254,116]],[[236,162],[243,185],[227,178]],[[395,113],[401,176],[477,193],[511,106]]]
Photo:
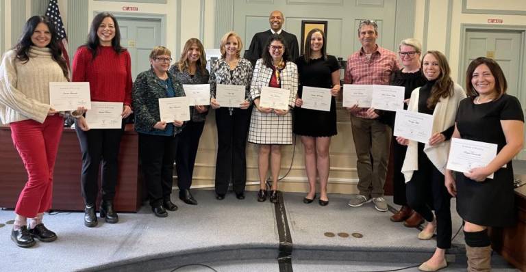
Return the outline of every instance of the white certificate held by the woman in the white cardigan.
[[[393,135],[427,144],[432,131],[433,115],[416,111],[397,111]]]

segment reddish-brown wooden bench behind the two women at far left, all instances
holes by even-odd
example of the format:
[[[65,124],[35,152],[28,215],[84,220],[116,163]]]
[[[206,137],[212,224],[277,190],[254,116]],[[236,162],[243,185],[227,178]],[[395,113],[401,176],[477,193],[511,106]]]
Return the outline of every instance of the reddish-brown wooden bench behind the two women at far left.
[[[142,202],[142,182],[138,173],[138,137],[132,124],[125,128],[118,163],[114,208],[118,212],[136,212]],[[52,210],[84,210],[81,171],[82,154],[77,133],[64,128],[53,175]],[[0,207],[14,208],[26,181],[27,172],[13,146],[10,127],[0,126]],[[97,207],[100,197],[99,193]]]

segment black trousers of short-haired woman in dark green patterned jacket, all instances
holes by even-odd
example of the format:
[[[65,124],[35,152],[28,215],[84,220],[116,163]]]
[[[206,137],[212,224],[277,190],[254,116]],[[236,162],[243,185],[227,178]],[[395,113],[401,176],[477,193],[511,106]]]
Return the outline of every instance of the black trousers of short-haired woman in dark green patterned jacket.
[[[151,206],[161,206],[163,200],[170,200],[178,139],[178,135],[139,133],[139,156]]]

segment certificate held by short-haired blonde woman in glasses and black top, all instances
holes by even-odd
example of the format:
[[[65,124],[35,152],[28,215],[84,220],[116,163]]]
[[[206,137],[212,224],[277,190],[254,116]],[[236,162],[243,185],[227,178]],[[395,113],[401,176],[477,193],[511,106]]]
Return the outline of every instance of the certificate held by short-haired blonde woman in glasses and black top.
[[[403,109],[405,87],[390,85],[373,85],[373,101],[371,107],[384,111]]]

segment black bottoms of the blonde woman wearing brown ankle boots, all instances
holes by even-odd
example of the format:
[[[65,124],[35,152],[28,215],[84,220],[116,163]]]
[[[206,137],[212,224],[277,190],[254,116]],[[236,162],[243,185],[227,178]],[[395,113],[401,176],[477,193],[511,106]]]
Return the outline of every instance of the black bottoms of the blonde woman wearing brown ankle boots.
[[[392,176],[392,200],[395,204],[407,206],[408,198],[405,195],[405,178],[402,174],[403,160],[405,160],[405,152],[408,150],[407,146],[398,144],[397,137],[392,137],[392,164],[393,174]]]

